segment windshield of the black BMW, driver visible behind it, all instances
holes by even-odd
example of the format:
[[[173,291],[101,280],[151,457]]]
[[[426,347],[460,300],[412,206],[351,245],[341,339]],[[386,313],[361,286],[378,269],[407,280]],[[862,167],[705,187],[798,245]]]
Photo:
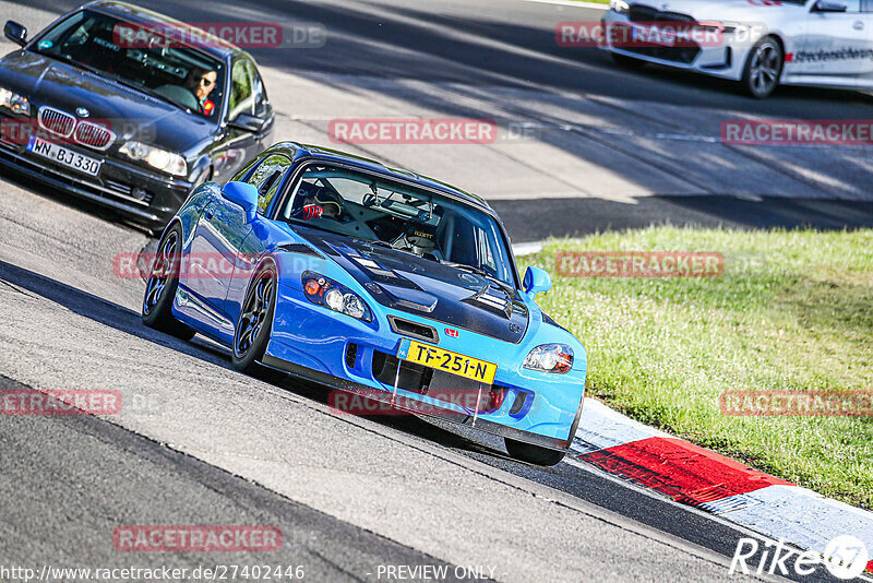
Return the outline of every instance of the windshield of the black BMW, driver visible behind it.
[[[217,119],[225,93],[222,61],[182,44],[172,27],[145,28],[100,12],[75,12],[47,31],[36,52]]]

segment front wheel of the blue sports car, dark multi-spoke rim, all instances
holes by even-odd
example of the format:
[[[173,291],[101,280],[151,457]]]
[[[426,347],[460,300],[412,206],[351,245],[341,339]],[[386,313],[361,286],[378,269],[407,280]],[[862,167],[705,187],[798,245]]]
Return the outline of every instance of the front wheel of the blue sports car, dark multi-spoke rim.
[[[249,284],[234,332],[231,362],[240,372],[253,372],[266,352],[276,313],[277,286],[276,266],[272,262],[262,265]]]

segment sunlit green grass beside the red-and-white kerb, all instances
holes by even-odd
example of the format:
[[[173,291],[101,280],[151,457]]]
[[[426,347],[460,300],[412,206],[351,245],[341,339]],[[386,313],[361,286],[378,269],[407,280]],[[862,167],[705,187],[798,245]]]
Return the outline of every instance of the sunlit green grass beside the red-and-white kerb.
[[[547,242],[543,311],[588,350],[588,394],[764,472],[873,508],[873,418],[722,415],[725,390],[873,389],[873,231],[653,227]],[[718,251],[715,278],[561,277],[558,251]]]

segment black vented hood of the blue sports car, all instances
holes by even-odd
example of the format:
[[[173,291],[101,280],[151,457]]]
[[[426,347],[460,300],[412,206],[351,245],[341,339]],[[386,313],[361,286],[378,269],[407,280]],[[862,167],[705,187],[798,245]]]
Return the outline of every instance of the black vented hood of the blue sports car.
[[[487,277],[358,239],[295,230],[382,306],[513,344],[527,331],[528,310],[518,293],[510,294]]]

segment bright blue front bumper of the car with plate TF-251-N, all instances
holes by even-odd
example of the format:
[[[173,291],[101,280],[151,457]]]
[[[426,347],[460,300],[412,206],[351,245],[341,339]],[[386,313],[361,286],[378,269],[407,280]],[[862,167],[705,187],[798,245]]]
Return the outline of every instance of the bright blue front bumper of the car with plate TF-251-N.
[[[406,336],[392,330],[388,316],[439,330],[444,329],[444,324],[382,306],[375,306],[373,312],[372,322],[356,320],[309,302],[300,289],[279,285],[273,334],[263,362],[414,413],[426,411],[427,415],[516,441],[554,450],[569,449],[582,412],[585,353],[582,349],[582,354],[576,354],[573,370],[565,374],[523,369],[522,362],[529,350],[541,343],[534,340],[543,340],[549,332],[540,330],[546,324],[538,314],[531,314],[525,336],[534,338],[530,342],[512,344],[461,330],[457,337],[440,334],[438,342],[431,343],[498,366],[493,384],[478,389],[486,398],[492,389],[501,393],[500,406],[481,411],[424,394],[415,381],[417,365],[403,361],[404,371],[400,372],[397,354]],[[403,382],[398,382],[397,374]],[[469,386],[469,381],[453,378],[457,379],[458,386]],[[479,402],[477,395],[475,403]],[[417,403],[427,407],[405,406]]]

